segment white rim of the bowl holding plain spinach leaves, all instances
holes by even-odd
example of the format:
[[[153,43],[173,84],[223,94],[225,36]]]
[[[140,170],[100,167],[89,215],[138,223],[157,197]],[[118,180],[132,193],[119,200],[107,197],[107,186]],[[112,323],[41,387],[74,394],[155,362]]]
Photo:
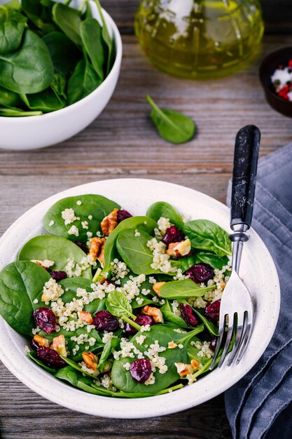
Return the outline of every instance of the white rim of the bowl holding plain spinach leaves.
[[[108,12],[104,8],[102,8],[102,12],[104,13],[104,19],[106,20],[106,24],[111,27],[111,30],[113,32],[113,39],[115,41],[116,46],[116,57],[115,61],[113,62],[113,67],[111,67],[111,71],[109,72],[108,76],[106,76],[106,79],[102,81],[102,83],[95,88],[89,95],[83,97],[81,100],[78,100],[77,102],[74,102],[74,104],[67,105],[67,107],[55,110],[54,112],[44,113],[37,116],[29,116],[29,117],[23,117],[23,116],[0,116],[0,121],[5,121],[6,123],[14,123],[13,121],[17,121],[18,123],[36,123],[36,121],[44,121],[45,119],[48,120],[50,118],[53,118],[56,114],[60,115],[64,112],[74,112],[78,107],[81,107],[83,104],[86,104],[89,100],[92,100],[95,98],[95,95],[98,95],[99,93],[104,90],[104,88],[107,87],[108,83],[111,82],[111,79],[113,76],[115,76],[118,73],[118,70],[120,68],[120,62],[122,60],[123,56],[123,43],[122,38],[120,36],[120,31],[118,30],[118,27],[116,25],[116,22],[114,22],[113,18],[111,18],[111,15],[109,15]]]

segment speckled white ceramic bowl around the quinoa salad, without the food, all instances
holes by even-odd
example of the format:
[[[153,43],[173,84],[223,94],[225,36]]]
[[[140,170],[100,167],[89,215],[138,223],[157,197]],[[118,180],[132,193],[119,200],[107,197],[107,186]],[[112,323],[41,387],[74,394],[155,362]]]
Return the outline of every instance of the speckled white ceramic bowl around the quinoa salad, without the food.
[[[16,259],[18,250],[33,236],[44,233],[42,219],[60,198],[80,194],[102,194],[120,203],[133,215],[145,215],[155,201],[172,203],[191,219],[205,218],[229,231],[228,208],[200,192],[154,180],[122,179],[92,182],[51,196],[20,217],[0,239],[0,269]],[[279,280],[272,257],[251,229],[244,244],[240,274],[256,302],[251,340],[241,363],[216,369],[195,384],[167,395],[119,399],[95,396],[55,379],[25,356],[25,339],[0,318],[0,359],[20,381],[54,403],[78,412],[112,418],[155,417],[186,410],[222,393],[241,379],[265,351],[277,323],[280,304]],[[5,394],[5,384],[1,392]]]

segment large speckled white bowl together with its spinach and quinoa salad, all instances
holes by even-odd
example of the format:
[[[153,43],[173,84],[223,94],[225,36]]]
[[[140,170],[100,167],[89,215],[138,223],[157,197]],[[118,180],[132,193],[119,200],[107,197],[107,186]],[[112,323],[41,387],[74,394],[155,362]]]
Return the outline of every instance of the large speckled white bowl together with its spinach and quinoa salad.
[[[218,201],[153,180],[94,182],[36,205],[0,240],[0,359],[49,400],[105,417],[178,412],[225,391],[279,313],[277,272],[251,230],[241,274],[253,335],[238,366],[209,371],[228,224]]]

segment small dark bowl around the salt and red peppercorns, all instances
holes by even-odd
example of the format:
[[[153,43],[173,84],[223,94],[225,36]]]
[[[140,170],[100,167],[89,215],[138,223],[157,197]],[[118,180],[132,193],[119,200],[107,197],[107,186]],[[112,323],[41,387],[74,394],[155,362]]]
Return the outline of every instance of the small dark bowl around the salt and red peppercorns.
[[[265,90],[265,98],[270,106],[285,116],[292,117],[292,101],[279,97],[274,91],[271,76],[279,65],[288,65],[292,59],[292,47],[284,47],[270,53],[260,65],[260,83]]]

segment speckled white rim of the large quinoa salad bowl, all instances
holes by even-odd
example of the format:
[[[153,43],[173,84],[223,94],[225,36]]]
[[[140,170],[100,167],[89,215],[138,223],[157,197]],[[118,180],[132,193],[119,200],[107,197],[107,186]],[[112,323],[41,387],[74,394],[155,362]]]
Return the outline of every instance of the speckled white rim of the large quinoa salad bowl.
[[[224,217],[228,215],[229,217],[229,209],[227,206],[223,205],[223,203],[220,203],[216,199],[207,196],[202,192],[195,191],[194,189],[190,189],[188,187],[183,187],[179,184],[139,178],[100,180],[98,182],[81,184],[77,187],[72,187],[65,191],[61,191],[58,194],[46,198],[45,200],[41,201],[41,203],[34,205],[34,207],[30,208],[29,210],[27,210],[27,212],[21,215],[4,233],[4,235],[0,238],[0,246],[3,245],[5,247],[5,241],[9,243],[9,238],[11,234],[17,233],[17,229],[20,224],[22,224],[24,220],[28,221],[29,218],[32,219],[32,217],[34,217],[35,215],[35,212],[40,208],[46,207],[47,209],[48,205],[52,205],[52,203],[55,203],[55,201],[57,201],[58,199],[64,198],[64,196],[72,196],[72,192],[74,192],[75,195],[89,194],[90,191],[92,191],[92,193],[98,193],[97,191],[99,191],[99,193],[101,194],[106,194],[106,190],[108,189],[109,184],[113,184],[113,187],[116,184],[116,188],[118,188],[118,190],[123,187],[123,184],[123,190],[125,190],[125,188],[127,187],[129,190],[131,190],[132,187],[137,188],[137,186],[139,186],[139,190],[142,191],[142,193],[143,191],[145,191],[146,187],[148,187],[148,190],[156,190],[159,186],[163,193],[171,191],[171,193],[173,194],[176,191],[176,198],[178,197],[178,191],[179,196],[181,196],[181,192],[183,191],[183,199],[186,200],[186,195],[190,197],[193,196],[197,203],[200,204],[202,202],[205,205],[209,205],[209,208],[212,209],[212,215],[213,209],[216,209],[217,215],[221,215],[221,217],[222,215]],[[99,186],[102,187],[102,190]],[[109,194],[109,196],[111,196],[111,194]],[[37,219],[36,221],[39,222],[39,219]],[[195,405],[204,403],[207,400],[210,400],[211,398],[214,398],[223,391],[227,390],[230,386],[239,381],[239,379],[244,377],[247,372],[249,372],[251,367],[256,364],[262,353],[265,351],[277,325],[280,306],[280,290],[277,269],[274,266],[274,262],[270,255],[270,252],[267,250],[265,244],[258,236],[258,234],[256,234],[256,231],[250,229],[250,236],[251,241],[256,240],[258,246],[258,254],[260,254],[260,260],[266,261],[269,264],[270,270],[267,273],[267,276],[270,276],[269,285],[272,285],[271,288],[274,298],[272,309],[274,311],[274,315],[269,315],[269,326],[265,328],[265,332],[261,334],[260,345],[257,345],[258,351],[249,352],[249,355],[253,356],[252,362],[248,365],[246,365],[246,363],[242,363],[242,367],[240,369],[235,365],[225,367],[225,378],[227,377],[228,380],[227,386],[226,380],[224,381],[224,379],[216,381],[217,375],[223,374],[223,367],[223,369],[216,369],[214,370],[214,372],[208,375],[210,384],[211,381],[216,382],[216,385],[214,385],[213,382],[213,386],[209,386],[211,387],[211,389],[209,389],[208,391],[204,389],[204,380],[207,379],[207,377],[203,377],[202,379],[197,381],[194,387],[185,386],[183,387],[183,389],[179,389],[174,393],[167,393],[165,395],[152,396],[148,398],[134,398],[125,400],[122,398],[120,399],[91,395],[90,393],[84,393],[84,395],[82,395],[82,392],[78,389],[71,388],[67,384],[56,380],[55,377],[52,377],[50,374],[48,374],[48,372],[41,370],[38,366],[34,364],[32,365],[30,363],[27,363],[27,367],[25,367],[25,365],[19,367],[18,363],[15,363],[15,356],[20,356],[21,353],[23,357],[24,353],[22,352],[20,346],[16,344],[15,337],[22,336],[18,335],[18,333],[12,330],[12,328],[8,326],[3,318],[0,318],[0,330],[5,331],[9,343],[15,344],[18,352],[14,352],[13,354],[11,354],[10,352],[7,353],[7,351],[4,350],[4,346],[0,344],[0,359],[4,363],[4,365],[8,367],[8,370],[15,374],[15,376],[20,379],[20,381],[22,381],[27,387],[29,387],[29,389],[32,389],[36,393],[39,393],[39,395],[43,396],[44,398],[51,400],[53,403],[60,404],[63,407],[67,407],[71,410],[76,410],[78,412],[84,412],[86,414],[92,414],[95,416],[110,417],[116,419],[139,419],[141,417],[157,417],[186,410],[194,407]],[[249,348],[247,349],[247,351],[249,351]],[[246,353],[244,354],[244,356],[246,356]],[[29,362],[29,358],[27,358],[27,362]],[[35,371],[33,378],[32,368]],[[41,381],[42,383],[41,388],[37,385],[37,377],[39,377],[39,382]],[[47,386],[45,386],[46,383]],[[60,391],[60,394],[57,392],[56,389]],[[66,393],[66,391],[67,393],[69,392],[71,398],[67,397],[67,399],[64,401],[62,400],[62,398],[64,399],[64,394]],[[195,394],[199,393],[199,396],[197,396],[197,400],[195,401],[195,403],[192,401],[192,396],[194,395],[194,392]],[[86,404],[84,401],[86,401]],[[147,402],[147,405],[145,404],[145,401]]]

